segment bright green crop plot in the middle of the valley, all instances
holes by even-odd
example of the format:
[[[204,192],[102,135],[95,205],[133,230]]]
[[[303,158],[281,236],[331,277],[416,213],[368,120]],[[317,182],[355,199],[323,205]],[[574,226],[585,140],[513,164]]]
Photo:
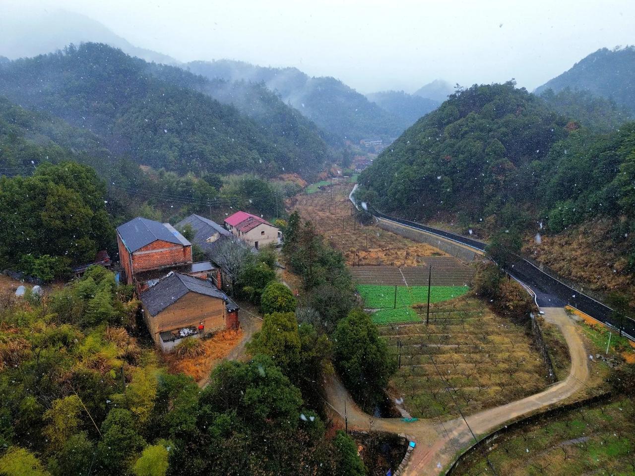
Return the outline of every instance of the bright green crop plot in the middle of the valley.
[[[394,286],[378,286],[376,284],[359,284],[357,286],[358,293],[364,300],[364,307],[366,308],[410,307],[427,302],[427,286],[397,286],[396,289],[397,295],[395,296]],[[430,302],[439,303],[458,298],[467,293],[469,289],[468,286],[432,286],[430,289]]]

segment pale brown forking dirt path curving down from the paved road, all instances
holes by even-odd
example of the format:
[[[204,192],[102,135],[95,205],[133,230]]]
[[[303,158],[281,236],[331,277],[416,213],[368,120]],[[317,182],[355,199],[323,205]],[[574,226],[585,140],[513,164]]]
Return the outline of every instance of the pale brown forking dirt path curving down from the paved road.
[[[472,432],[478,437],[503,425],[506,421],[550,406],[570,397],[585,385],[589,378],[587,352],[584,343],[573,321],[563,308],[542,308],[545,321],[558,326],[565,336],[572,358],[569,376],[551,385],[543,392],[525,399],[485,410],[450,421],[419,420],[406,423],[399,418],[373,418],[364,413],[352,401],[349,393],[337,376],[330,376],[325,381],[325,393],[328,404],[335,412],[344,415],[344,401],[349,428],[359,430],[382,430],[393,433],[404,433],[417,443],[410,456],[410,461],[403,476],[438,475],[456,457],[457,452],[466,447],[472,440]]]

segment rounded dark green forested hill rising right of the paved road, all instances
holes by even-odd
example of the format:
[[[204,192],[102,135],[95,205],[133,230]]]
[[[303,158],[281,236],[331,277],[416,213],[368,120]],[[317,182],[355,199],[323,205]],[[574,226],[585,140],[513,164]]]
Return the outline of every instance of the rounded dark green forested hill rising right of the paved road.
[[[512,83],[472,86],[404,132],[360,182],[387,210],[491,215],[533,193],[531,166],[568,135],[566,124]]]

